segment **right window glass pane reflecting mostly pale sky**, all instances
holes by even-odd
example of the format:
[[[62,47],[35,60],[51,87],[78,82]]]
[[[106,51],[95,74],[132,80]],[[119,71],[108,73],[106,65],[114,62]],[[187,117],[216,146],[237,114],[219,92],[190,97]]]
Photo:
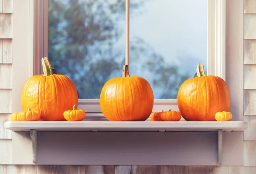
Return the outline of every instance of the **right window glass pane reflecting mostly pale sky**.
[[[207,72],[207,0],[145,0],[131,12],[130,75],[148,80],[154,99],[177,99],[198,63]]]

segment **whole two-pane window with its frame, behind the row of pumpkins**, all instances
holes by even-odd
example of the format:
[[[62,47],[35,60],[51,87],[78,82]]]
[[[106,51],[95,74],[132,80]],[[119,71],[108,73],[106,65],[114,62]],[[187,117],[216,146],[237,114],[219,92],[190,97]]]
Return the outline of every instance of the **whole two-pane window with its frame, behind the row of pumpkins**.
[[[73,80],[80,108],[101,113],[101,89],[125,64],[125,0],[44,0],[35,8],[40,58]],[[198,63],[225,79],[224,16],[221,0],[130,0],[130,75],[151,84],[153,110],[177,109],[179,87]]]

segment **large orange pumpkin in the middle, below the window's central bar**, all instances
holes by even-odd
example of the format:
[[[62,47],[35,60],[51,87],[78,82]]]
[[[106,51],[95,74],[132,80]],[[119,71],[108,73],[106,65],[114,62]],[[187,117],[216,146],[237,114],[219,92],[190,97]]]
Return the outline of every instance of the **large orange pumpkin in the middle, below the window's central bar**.
[[[148,81],[130,76],[128,65],[124,65],[122,77],[103,86],[99,103],[110,121],[145,121],[152,112],[154,95]]]

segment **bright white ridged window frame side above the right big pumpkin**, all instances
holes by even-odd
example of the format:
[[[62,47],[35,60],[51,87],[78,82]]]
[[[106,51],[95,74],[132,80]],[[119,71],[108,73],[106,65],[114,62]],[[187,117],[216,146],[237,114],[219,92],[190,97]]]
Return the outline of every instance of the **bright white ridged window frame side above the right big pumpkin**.
[[[226,80],[226,0],[208,0],[207,75]]]

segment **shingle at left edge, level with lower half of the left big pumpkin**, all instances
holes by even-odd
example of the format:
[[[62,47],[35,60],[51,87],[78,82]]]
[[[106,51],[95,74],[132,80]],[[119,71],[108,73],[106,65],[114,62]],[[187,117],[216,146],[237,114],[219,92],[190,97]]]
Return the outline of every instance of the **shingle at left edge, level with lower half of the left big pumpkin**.
[[[0,89],[0,113],[12,113],[12,90]]]

